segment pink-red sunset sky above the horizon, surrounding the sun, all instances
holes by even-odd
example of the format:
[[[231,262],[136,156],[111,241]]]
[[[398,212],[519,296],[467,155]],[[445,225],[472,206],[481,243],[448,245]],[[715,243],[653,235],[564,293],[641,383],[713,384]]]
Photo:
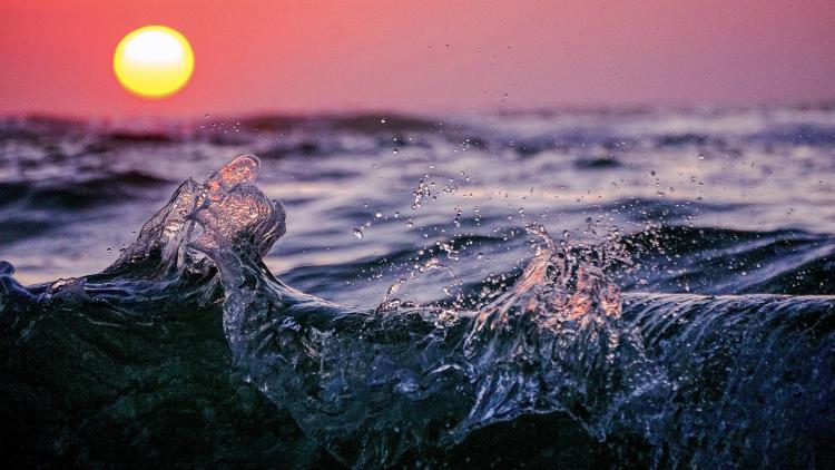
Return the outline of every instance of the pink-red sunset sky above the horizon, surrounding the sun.
[[[147,100],[119,40],[180,31],[195,72]],[[0,0],[0,115],[203,116],[835,99],[832,0]]]

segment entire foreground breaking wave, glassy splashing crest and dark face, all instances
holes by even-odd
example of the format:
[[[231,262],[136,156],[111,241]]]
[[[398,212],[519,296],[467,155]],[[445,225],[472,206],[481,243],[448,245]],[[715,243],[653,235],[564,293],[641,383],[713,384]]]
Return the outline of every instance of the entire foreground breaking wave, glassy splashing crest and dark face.
[[[530,225],[537,249],[503,285],[418,305],[394,284],[375,310],[340,306],[264,265],[286,216],[258,170],[245,156],[187,180],[101,274],[24,287],[3,263],[7,456],[107,466],[170,433],[184,464],[202,460],[183,442],[212,439],[226,450],[214,464],[262,439],[274,447],[258,458],[298,464],[454,463],[471,437],[479,449],[536,415],[569,437],[539,449],[551,463],[794,467],[833,450],[832,297],[621,295],[605,270],[628,249]],[[281,410],[297,428],[275,425]],[[126,421],[116,457],[97,439]]]

